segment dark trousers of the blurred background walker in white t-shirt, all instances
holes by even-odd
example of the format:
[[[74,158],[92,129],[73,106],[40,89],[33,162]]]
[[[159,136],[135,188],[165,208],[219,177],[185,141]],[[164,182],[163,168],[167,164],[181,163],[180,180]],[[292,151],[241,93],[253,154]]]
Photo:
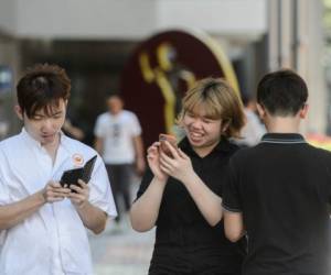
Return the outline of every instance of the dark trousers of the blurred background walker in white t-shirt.
[[[108,177],[110,180],[111,191],[117,208],[116,221],[120,220],[120,215],[128,211],[131,206],[130,184],[132,178],[132,165],[131,164],[106,164]],[[125,209],[119,207],[119,198],[122,198]]]

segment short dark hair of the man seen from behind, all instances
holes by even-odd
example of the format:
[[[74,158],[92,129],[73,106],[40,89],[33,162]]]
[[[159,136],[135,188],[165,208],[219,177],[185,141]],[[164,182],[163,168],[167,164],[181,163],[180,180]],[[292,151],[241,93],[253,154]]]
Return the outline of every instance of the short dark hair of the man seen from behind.
[[[295,116],[307,98],[305,80],[289,69],[265,75],[257,87],[257,102],[273,116]]]

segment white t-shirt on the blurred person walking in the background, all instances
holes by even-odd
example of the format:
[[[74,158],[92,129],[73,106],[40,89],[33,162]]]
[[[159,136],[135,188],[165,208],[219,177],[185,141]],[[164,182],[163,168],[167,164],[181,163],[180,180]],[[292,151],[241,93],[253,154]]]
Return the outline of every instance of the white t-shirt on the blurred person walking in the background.
[[[104,140],[103,157],[106,164],[131,164],[135,162],[134,138],[141,134],[141,127],[135,113],[122,110],[113,116],[102,113],[94,133]]]

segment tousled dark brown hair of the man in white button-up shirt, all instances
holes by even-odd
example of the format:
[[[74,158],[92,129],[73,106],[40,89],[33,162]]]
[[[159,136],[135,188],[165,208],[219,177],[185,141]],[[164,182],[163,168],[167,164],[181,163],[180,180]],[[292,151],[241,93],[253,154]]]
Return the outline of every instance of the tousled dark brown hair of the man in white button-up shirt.
[[[56,65],[36,64],[29,68],[17,86],[18,102],[28,118],[44,109],[50,114],[58,100],[67,100],[71,80],[65,70]]]

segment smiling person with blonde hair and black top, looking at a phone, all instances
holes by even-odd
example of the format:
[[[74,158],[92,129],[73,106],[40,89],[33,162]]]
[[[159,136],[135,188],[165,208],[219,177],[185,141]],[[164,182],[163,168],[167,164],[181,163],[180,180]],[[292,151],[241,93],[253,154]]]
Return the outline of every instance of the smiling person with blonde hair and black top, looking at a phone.
[[[203,79],[183,98],[179,124],[185,132],[168,156],[156,142],[130,217],[143,232],[157,226],[150,275],[238,275],[245,248],[224,235],[222,177],[244,124],[242,103],[221,79]]]

